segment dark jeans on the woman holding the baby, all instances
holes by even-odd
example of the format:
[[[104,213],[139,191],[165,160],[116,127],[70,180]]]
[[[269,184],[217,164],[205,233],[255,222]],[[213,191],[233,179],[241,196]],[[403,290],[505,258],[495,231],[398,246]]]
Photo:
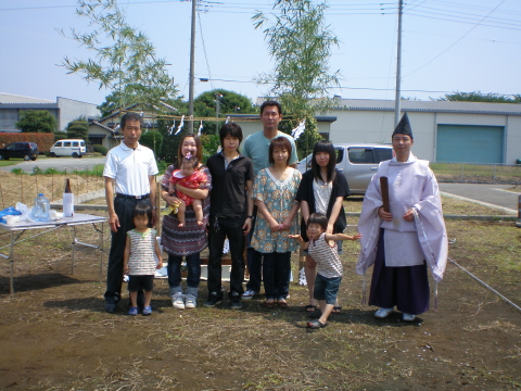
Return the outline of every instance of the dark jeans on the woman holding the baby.
[[[201,281],[201,257],[199,253],[187,255],[187,293],[193,294],[195,298],[199,293],[199,282]],[[168,254],[168,287],[170,288],[170,297],[176,293],[182,293],[181,287],[181,262],[182,256]]]

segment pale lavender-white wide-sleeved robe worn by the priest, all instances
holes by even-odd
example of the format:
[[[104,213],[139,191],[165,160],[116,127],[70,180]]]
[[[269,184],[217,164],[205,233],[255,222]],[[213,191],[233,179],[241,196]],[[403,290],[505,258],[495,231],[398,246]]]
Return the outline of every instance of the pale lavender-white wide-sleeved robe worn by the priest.
[[[389,182],[392,222],[378,215],[383,205],[380,177]],[[406,222],[403,216],[412,209],[415,220]],[[364,198],[358,232],[360,254],[356,272],[364,275],[374,263],[380,228],[385,229],[385,266],[415,266],[427,262],[435,281],[443,278],[447,263],[447,231],[443,220],[440,190],[429,162],[409,154],[407,162],[396,157],[381,162]]]

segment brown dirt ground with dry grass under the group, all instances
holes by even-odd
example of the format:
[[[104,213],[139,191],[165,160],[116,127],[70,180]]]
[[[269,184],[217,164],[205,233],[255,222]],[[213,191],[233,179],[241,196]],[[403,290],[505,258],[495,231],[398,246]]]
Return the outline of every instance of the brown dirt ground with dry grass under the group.
[[[521,229],[511,222],[466,220],[447,222],[447,230],[450,258],[521,305]],[[104,231],[107,250],[106,227]],[[78,238],[97,241],[88,226],[78,228]],[[0,231],[0,247],[8,240]],[[0,262],[0,388],[521,388],[520,311],[449,262],[439,285],[436,311],[432,298],[431,311],[411,324],[397,313],[376,319],[376,308],[360,303],[363,279],[354,273],[357,245],[344,243],[342,313],[332,315],[328,327],[309,330],[307,289],[296,282],[287,310],[265,308],[262,297],[244,302],[242,311],[229,310],[227,300],[220,307],[205,308],[203,281],[198,308],[179,311],[171,307],[167,281],[156,279],[152,316],[127,316],[126,300],[115,314],[107,314],[99,252],[77,252],[72,275],[71,231],[28,239],[15,248],[14,297],[9,294],[9,263]],[[296,277],[296,255],[293,261]],[[368,290],[369,283],[368,274]]]

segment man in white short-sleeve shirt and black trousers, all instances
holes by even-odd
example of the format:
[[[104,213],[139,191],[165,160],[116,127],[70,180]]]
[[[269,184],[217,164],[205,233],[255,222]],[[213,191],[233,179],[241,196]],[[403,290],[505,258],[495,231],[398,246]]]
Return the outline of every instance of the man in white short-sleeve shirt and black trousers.
[[[123,141],[109,151],[103,169],[112,230],[104,294],[107,313],[116,311],[122,299],[123,253],[127,231],[135,227],[134,209],[139,202],[151,204],[154,210],[152,226],[157,222],[154,202],[157,164],[152,150],[139,143],[142,118],[137,113],[126,113],[119,126]]]

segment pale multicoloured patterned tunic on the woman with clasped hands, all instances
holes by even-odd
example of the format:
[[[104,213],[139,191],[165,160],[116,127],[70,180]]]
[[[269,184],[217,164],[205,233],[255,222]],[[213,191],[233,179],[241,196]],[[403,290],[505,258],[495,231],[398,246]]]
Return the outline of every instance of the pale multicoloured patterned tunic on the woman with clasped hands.
[[[283,181],[275,178],[269,168],[260,169],[253,186],[253,198],[263,201],[268,212],[277,223],[281,224],[296,203],[295,195],[301,184],[302,175],[297,169],[288,175]],[[252,237],[252,247],[262,253],[288,252],[296,249],[296,240],[289,239],[288,235],[298,234],[298,220],[295,217],[289,230],[272,232],[262,213],[257,213],[255,230]]]

